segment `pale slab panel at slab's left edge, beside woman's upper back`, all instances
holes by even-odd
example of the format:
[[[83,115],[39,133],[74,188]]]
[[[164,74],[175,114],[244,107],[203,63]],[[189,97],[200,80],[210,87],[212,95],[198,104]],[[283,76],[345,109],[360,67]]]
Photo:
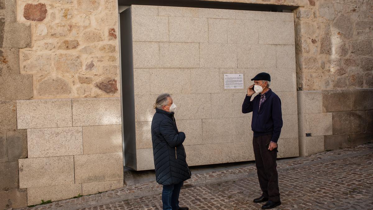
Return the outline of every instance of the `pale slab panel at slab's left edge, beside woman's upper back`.
[[[153,148],[151,140],[151,122],[137,122],[136,149]]]

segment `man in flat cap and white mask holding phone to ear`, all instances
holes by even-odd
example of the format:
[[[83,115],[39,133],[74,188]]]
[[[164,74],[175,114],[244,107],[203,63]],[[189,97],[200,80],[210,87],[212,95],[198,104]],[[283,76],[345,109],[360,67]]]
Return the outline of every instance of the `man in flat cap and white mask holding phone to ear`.
[[[261,208],[272,209],[281,205],[276,169],[277,140],[282,128],[281,101],[269,88],[271,77],[268,73],[259,73],[251,80],[254,80],[254,84],[247,89],[242,113],[253,112],[253,149],[259,185],[263,192],[259,198],[254,199],[254,203],[267,201]],[[250,101],[254,93],[259,94]]]

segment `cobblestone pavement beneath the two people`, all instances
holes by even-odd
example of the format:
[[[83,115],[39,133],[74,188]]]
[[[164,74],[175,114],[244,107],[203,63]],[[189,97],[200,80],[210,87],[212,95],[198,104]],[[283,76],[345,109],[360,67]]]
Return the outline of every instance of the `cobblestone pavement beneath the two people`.
[[[278,209],[373,209],[373,143],[278,160]],[[162,209],[156,182],[26,209]],[[260,209],[254,164],[193,175],[180,194],[189,209]]]

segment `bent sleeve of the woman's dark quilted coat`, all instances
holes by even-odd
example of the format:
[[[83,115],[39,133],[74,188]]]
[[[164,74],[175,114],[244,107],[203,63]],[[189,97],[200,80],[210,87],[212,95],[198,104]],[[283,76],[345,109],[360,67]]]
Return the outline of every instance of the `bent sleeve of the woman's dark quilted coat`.
[[[184,132],[177,133],[172,123],[170,120],[163,120],[159,126],[159,131],[168,145],[175,147],[184,142],[185,134]]]

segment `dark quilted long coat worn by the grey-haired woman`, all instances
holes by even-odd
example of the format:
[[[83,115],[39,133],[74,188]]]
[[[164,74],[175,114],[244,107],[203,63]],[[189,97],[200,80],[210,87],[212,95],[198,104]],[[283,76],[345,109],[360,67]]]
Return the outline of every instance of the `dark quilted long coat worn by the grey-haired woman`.
[[[182,145],[185,134],[178,131],[173,114],[156,109],[151,122],[156,180],[161,185],[174,185],[191,176]]]

